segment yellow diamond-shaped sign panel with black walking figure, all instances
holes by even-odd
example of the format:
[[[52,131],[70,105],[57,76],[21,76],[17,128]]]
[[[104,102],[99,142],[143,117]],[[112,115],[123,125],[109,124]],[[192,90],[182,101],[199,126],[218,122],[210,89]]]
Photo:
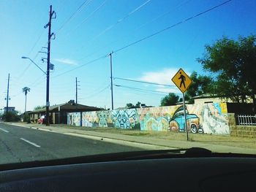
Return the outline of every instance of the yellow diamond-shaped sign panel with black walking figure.
[[[182,93],[187,91],[187,88],[189,88],[189,85],[192,83],[192,80],[190,80],[189,76],[182,69],[178,70],[172,81]]]

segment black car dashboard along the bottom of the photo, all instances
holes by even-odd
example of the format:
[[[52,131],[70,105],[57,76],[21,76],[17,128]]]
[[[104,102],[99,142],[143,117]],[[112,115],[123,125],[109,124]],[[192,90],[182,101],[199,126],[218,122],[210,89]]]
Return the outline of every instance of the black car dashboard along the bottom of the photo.
[[[157,157],[158,156],[158,157]],[[1,166],[0,191],[249,191],[256,158],[142,155],[113,161]]]

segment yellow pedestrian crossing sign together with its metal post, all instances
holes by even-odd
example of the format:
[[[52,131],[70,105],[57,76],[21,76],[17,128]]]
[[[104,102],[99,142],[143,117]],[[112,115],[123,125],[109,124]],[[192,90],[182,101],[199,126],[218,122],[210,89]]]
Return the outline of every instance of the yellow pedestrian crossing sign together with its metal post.
[[[187,114],[186,114],[184,93],[185,93],[185,91],[187,91],[187,88],[189,88],[189,85],[191,85],[192,80],[190,80],[189,76],[182,69],[179,69],[178,72],[173,76],[172,81],[178,87],[178,89],[182,92],[185,131],[186,131],[186,136],[187,136],[187,141],[188,141],[189,134],[188,134],[188,128],[187,128]]]

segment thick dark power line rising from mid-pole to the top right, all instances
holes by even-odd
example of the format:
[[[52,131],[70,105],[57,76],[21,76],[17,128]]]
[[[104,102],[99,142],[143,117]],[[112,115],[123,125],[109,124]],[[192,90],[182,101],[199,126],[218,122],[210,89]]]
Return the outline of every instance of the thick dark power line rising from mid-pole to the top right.
[[[162,29],[162,30],[160,30],[160,31],[157,31],[157,32],[155,32],[154,34],[148,35],[147,37],[144,37],[143,39],[139,39],[138,41],[132,42],[132,43],[130,43],[129,45],[126,45],[126,46],[124,46],[124,47],[121,47],[121,48],[119,48],[118,50],[113,51],[113,53],[117,53],[117,52],[120,51],[120,50],[124,50],[124,49],[127,48],[127,47],[130,47],[130,46],[135,45],[135,44],[137,44],[137,43],[139,43],[139,42],[142,42],[142,41],[144,41],[144,40],[146,40],[146,39],[149,39],[149,38],[151,38],[151,37],[154,37],[154,36],[157,35],[157,34],[160,34],[160,33],[164,32],[164,31],[167,31],[167,30],[170,29],[170,28],[173,28],[173,27],[178,26],[178,25],[180,25],[180,24],[182,24],[182,23],[185,23],[185,22],[187,22],[187,21],[189,21],[189,20],[192,20],[192,19],[194,19],[194,18],[197,18],[198,16],[203,15],[203,14],[205,14],[206,12],[210,12],[210,11],[213,10],[213,9],[217,9],[218,7],[221,7],[222,5],[227,4],[227,3],[230,2],[230,1],[232,1],[232,0],[225,1],[225,2],[223,2],[222,4],[218,4],[218,5],[215,6],[215,7],[211,7],[210,9],[206,9],[206,10],[203,11],[203,12],[200,12],[200,13],[198,13],[198,14],[196,14],[196,15],[193,15],[193,16],[190,17],[190,18],[187,18],[187,19],[185,19],[185,20],[182,20],[182,21],[180,21],[180,22],[174,24],[173,26],[168,26],[167,28],[164,28],[164,29]]]

